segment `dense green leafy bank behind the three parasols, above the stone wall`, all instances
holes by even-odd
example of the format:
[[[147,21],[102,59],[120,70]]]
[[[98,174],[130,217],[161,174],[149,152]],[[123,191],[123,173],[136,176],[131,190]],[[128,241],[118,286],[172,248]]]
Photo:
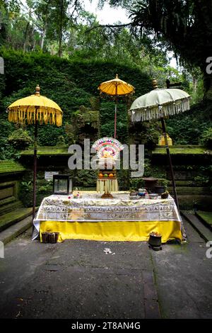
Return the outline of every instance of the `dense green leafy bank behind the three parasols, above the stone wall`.
[[[139,66],[126,66],[118,62],[100,60],[66,60],[52,57],[41,52],[23,53],[20,51],[0,49],[0,55],[5,61],[4,94],[1,101],[1,149],[0,157],[13,156],[11,147],[8,149],[6,137],[14,130],[14,126],[6,120],[6,107],[18,98],[28,96],[35,90],[36,84],[41,86],[41,94],[52,98],[64,111],[63,126],[40,125],[38,129],[39,145],[58,145],[59,137],[63,136],[66,144],[74,142],[73,131],[67,131],[71,118],[80,106],[91,110],[94,108],[93,99],[99,96],[98,86],[102,81],[112,79],[116,73],[121,79],[133,84],[136,89],[134,98],[151,90],[151,79],[143,74]],[[128,106],[129,107],[129,106]],[[211,105],[199,103],[192,110],[175,115],[167,120],[167,131],[179,144],[197,144],[202,132],[209,127]],[[128,129],[128,124],[130,128]],[[33,126],[27,126],[33,137]],[[158,143],[161,133],[157,121],[131,124],[127,117],[126,103],[120,99],[117,103],[117,139],[126,142],[130,135],[132,141],[138,141],[153,147]],[[100,103],[100,135],[114,135],[114,101],[110,98],[101,99]],[[8,151],[8,152],[6,152]]]

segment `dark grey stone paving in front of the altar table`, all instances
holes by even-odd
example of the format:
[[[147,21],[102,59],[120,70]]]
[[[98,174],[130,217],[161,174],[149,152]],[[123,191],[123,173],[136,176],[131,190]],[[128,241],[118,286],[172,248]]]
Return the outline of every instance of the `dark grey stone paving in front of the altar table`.
[[[159,252],[146,242],[42,244],[28,230],[0,259],[0,317],[211,318],[212,259],[184,225],[187,244]]]

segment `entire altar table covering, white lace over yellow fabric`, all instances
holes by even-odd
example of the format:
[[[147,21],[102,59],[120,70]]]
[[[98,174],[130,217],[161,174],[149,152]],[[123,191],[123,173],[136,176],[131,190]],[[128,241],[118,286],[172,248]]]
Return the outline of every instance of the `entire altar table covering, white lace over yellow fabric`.
[[[52,195],[44,198],[34,220],[38,232],[60,232],[64,239],[148,240],[149,232],[160,232],[162,241],[182,240],[181,218],[171,196],[167,199],[135,199],[129,193],[100,198],[95,191],[82,198]],[[33,239],[37,237],[34,235]]]

